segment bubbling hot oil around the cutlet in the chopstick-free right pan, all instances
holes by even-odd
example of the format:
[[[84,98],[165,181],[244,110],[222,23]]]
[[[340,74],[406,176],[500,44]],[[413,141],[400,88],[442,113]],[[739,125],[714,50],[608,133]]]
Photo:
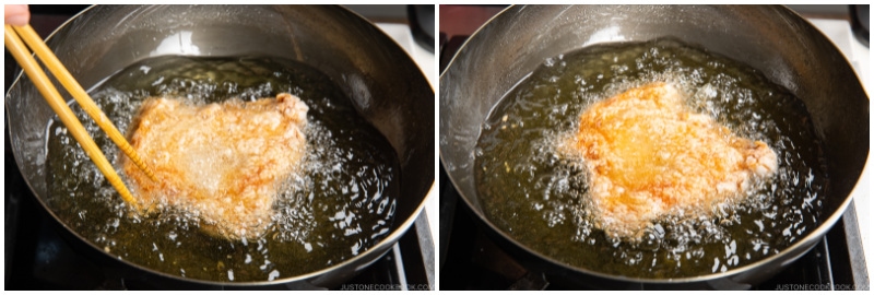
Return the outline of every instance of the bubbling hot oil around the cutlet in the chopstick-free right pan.
[[[588,106],[657,81],[677,85],[690,109],[736,135],[766,142],[779,168],[743,202],[710,208],[713,217],[669,215],[639,238],[611,238],[584,205],[591,184],[583,160],[556,146]],[[819,223],[827,176],[803,103],[747,66],[675,40],[551,58],[501,99],[482,130],[474,153],[486,215],[570,266],[652,279],[724,272],[780,252]]]

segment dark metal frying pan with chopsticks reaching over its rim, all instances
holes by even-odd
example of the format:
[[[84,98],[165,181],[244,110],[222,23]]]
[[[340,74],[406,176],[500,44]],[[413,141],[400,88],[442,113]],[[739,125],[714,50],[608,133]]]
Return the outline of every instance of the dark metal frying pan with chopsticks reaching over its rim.
[[[191,32],[188,40],[175,32]],[[179,46],[161,46],[176,37]],[[434,91],[412,59],[364,17],[340,7],[304,5],[111,5],[75,15],[47,40],[85,88],[139,60],[162,56],[260,55],[319,69],[352,99],[394,149],[400,196],[390,234],[367,251],[320,271],[262,282],[210,282],[122,263],[160,280],[193,286],[331,287],[385,255],[415,221],[434,184]],[[170,43],[176,44],[176,43]],[[197,48],[197,50],[192,50]],[[20,75],[5,97],[10,140],[28,187],[46,205],[47,122],[55,114],[31,81]],[[61,223],[59,221],[59,223]],[[115,260],[61,224],[83,248]]]

